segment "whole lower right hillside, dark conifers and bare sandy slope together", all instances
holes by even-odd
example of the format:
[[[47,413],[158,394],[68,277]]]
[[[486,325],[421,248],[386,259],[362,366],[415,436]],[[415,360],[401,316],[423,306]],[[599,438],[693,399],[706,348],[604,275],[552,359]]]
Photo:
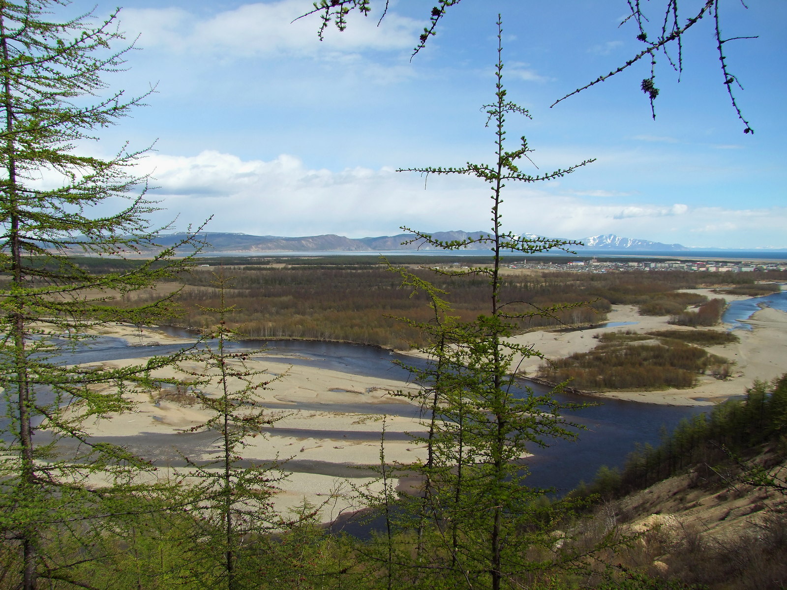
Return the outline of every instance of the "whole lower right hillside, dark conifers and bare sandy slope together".
[[[637,532],[614,559],[651,573],[649,588],[785,588],[785,408],[787,374],[635,449],[623,470],[602,467],[571,493],[599,502],[587,528]]]

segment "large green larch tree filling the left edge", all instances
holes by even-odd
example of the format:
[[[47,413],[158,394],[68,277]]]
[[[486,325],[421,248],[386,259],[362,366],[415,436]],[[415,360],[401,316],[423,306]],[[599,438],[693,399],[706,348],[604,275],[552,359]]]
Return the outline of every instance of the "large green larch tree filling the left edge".
[[[87,154],[98,131],[127,116],[144,95],[108,92],[102,81],[122,68],[131,49],[113,49],[123,42],[116,13],[50,20],[50,9],[66,4],[0,2],[0,530],[6,548],[14,548],[24,590],[41,577],[70,581],[69,560],[91,559],[93,545],[75,540],[74,555],[54,555],[52,548],[89,534],[95,518],[119,511],[118,498],[123,511],[141,501],[142,494],[131,493],[128,470],[146,464],[91,442],[83,421],[126,408],[127,384],[145,385],[150,370],[170,362],[153,358],[113,370],[69,367],[64,355],[98,325],[168,315],[169,300],[132,308],[117,299],[188,264],[172,259],[175,248],[156,245],[161,228],[147,221],[156,205],[146,198],[146,178],[135,174],[145,150]],[[116,202],[114,213],[91,214]],[[193,238],[184,242],[195,245]],[[131,270],[118,265],[126,270],[103,274],[72,257],[141,251],[152,254]],[[107,382],[118,384],[114,393],[98,391]],[[58,451],[58,441],[69,450]]]

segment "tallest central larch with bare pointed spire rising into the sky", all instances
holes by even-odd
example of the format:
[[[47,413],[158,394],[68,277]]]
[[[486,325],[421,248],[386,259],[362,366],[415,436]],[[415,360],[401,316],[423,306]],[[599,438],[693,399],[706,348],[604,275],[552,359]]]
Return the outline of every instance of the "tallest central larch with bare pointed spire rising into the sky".
[[[449,498],[453,498],[453,515],[449,517],[458,529],[452,532],[450,554],[453,564],[467,580],[479,575],[489,578],[493,590],[501,588],[524,573],[529,564],[521,562],[525,549],[534,539],[522,533],[529,519],[527,506],[541,495],[538,489],[527,486],[524,479],[527,467],[522,459],[532,447],[544,445],[550,437],[575,437],[570,424],[560,415],[551,393],[537,395],[532,390],[519,389],[515,370],[519,356],[538,354],[527,346],[509,340],[518,328],[518,320],[530,315],[549,314],[556,309],[533,308],[526,302],[504,301],[501,278],[504,252],[538,253],[552,249],[568,249],[573,242],[550,238],[531,238],[506,232],[502,227],[503,192],[507,183],[538,183],[558,179],[593,160],[585,160],[565,169],[546,174],[530,175],[520,170],[520,160],[529,160],[532,150],[522,137],[519,146],[506,145],[508,116],[529,113],[507,98],[503,85],[502,24],[497,21],[498,46],[495,68],[495,100],[484,105],[487,126],[494,136],[494,160],[491,164],[467,163],[461,168],[405,168],[434,175],[470,175],[490,187],[492,227],[478,238],[442,242],[430,234],[408,227],[402,229],[415,234],[412,242],[428,243],[445,250],[460,250],[467,245],[488,245],[493,254],[490,266],[471,267],[459,274],[482,276],[489,282],[489,307],[471,323],[452,327],[451,343],[442,349],[435,363],[444,368],[438,386],[445,388],[442,404],[437,404],[441,415],[438,424],[445,432],[438,444],[439,461],[454,464],[450,474],[444,475]],[[460,426],[460,427],[458,427]],[[457,435],[461,434],[461,441]],[[448,434],[448,437],[445,437]],[[459,449],[459,454],[457,454]],[[434,458],[432,459],[434,463]],[[461,463],[461,464],[460,464]],[[452,489],[453,488],[453,489]],[[445,496],[445,495],[444,495]],[[437,507],[445,507],[446,500]],[[445,516],[436,520],[445,520]],[[527,524],[526,524],[527,523]],[[481,582],[485,584],[484,582]],[[485,584],[486,585],[486,584]]]

